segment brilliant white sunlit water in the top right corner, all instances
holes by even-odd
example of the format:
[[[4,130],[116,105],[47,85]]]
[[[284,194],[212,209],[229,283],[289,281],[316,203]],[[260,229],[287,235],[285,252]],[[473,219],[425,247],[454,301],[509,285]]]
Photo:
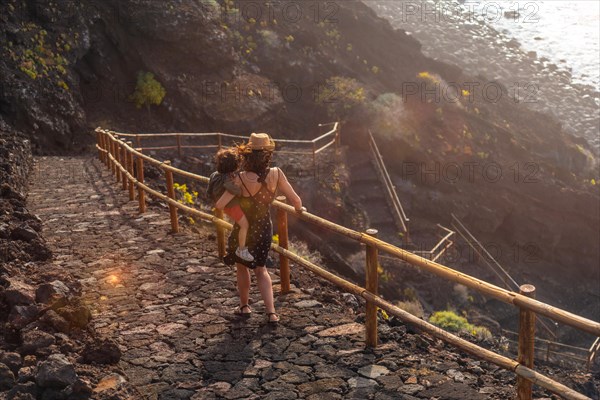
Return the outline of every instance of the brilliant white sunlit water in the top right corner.
[[[523,49],[570,68],[574,83],[600,90],[600,1],[477,0],[462,7],[514,37]],[[511,11],[518,14],[504,15]]]

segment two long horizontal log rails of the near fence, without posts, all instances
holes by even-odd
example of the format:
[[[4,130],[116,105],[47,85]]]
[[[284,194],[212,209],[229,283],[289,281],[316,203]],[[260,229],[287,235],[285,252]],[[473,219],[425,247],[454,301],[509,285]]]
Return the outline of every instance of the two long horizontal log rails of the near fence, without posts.
[[[174,168],[174,167],[168,165],[168,163],[154,160],[151,157],[148,157],[148,156],[142,154],[141,152],[133,149],[131,145],[129,145],[127,143],[123,143],[121,141],[118,141],[117,139],[115,139],[113,137],[113,135],[110,132],[100,131],[100,133],[101,133],[101,135],[99,135],[99,138],[100,138],[99,143],[97,144],[99,154],[104,155],[104,158],[106,159],[107,164],[109,164],[110,166],[116,166],[116,170],[122,176],[123,180],[127,179],[130,183],[132,183],[136,187],[138,187],[138,189],[144,190],[147,193],[149,193],[150,195],[163,200],[164,202],[166,202],[169,206],[171,206],[173,208],[177,208],[185,213],[188,213],[188,214],[197,216],[203,220],[212,222],[217,227],[228,229],[228,230],[232,229],[232,225],[230,223],[222,220],[221,218],[219,218],[215,215],[200,211],[196,208],[186,206],[186,205],[178,202],[174,198],[171,198],[165,194],[162,194],[162,193],[148,187],[144,183],[139,182],[136,179],[136,177],[134,177],[132,175],[132,173],[130,173],[130,171],[127,170],[126,167],[121,165],[121,158],[120,158],[118,152],[116,152],[117,157],[113,157],[113,151],[114,151],[113,149],[122,149],[122,150],[128,152],[129,154],[131,154],[132,156],[135,155],[139,159],[144,159],[144,160],[152,163],[153,165],[160,166],[160,168],[162,168],[164,171],[169,171],[171,173],[176,173],[178,175],[186,176],[188,178],[197,180],[199,182],[207,183],[209,180],[207,177],[192,174],[187,171],[179,170],[177,168]],[[108,137],[108,140],[102,139],[101,137],[103,135]],[[116,143],[116,142],[120,143],[119,144],[120,147],[112,145],[113,143]],[[101,159],[102,158],[103,157],[101,156]],[[109,166],[109,165],[107,165],[107,166]],[[484,294],[490,295],[501,301],[504,301],[509,304],[513,304],[517,307],[520,307],[523,310],[529,310],[534,313],[546,315],[557,321],[563,322],[565,324],[579,328],[583,331],[593,333],[593,334],[596,334],[597,336],[600,336],[597,334],[600,332],[600,324],[598,324],[597,322],[594,322],[594,321],[588,320],[586,318],[580,317],[578,315],[569,313],[567,311],[552,307],[548,304],[541,303],[537,300],[528,298],[528,297],[520,295],[518,293],[509,292],[502,288],[491,285],[485,281],[481,281],[477,278],[470,277],[466,274],[463,274],[461,272],[458,272],[458,271],[452,270],[448,267],[445,267],[441,264],[429,261],[429,260],[419,257],[417,255],[414,255],[406,250],[400,249],[389,243],[383,242],[383,241],[381,241],[373,236],[370,236],[366,233],[360,233],[360,232],[353,231],[349,228],[345,228],[343,226],[337,225],[331,221],[328,221],[324,218],[310,214],[308,212],[297,213],[292,206],[289,206],[280,201],[275,201],[273,203],[273,205],[276,208],[278,208],[279,210],[281,210],[282,212],[293,213],[294,215],[296,215],[298,218],[300,218],[302,220],[311,222],[317,226],[321,226],[321,227],[327,228],[329,230],[332,230],[334,232],[340,233],[344,236],[350,237],[358,242],[361,242],[361,243],[366,244],[367,246],[370,246],[372,249],[381,250],[388,254],[394,255],[401,260],[404,260],[404,261],[406,261],[412,265],[415,265],[417,267],[421,267],[422,269],[424,269],[426,271],[429,271],[429,272],[432,272],[439,276],[442,276],[448,280],[451,280],[451,281],[454,281],[457,283],[461,283],[467,287],[471,287],[475,290],[478,290]],[[452,335],[438,327],[435,327],[432,324],[429,324],[428,322],[423,321],[423,320],[399,309],[398,307],[386,302],[385,300],[383,300],[376,294],[367,291],[365,288],[362,288],[358,285],[348,282],[348,281],[344,280],[343,278],[340,278],[340,277],[322,269],[321,267],[318,267],[315,264],[312,264],[309,261],[304,260],[303,258],[297,256],[296,254],[294,254],[276,244],[272,244],[271,247],[274,251],[284,255],[285,257],[296,262],[297,264],[311,270],[316,275],[329,280],[330,282],[336,284],[337,286],[341,287],[342,289],[344,289],[350,293],[354,293],[354,294],[357,294],[357,295],[365,298],[365,300],[367,300],[368,303],[375,304],[376,306],[386,310],[388,313],[397,316],[402,321],[407,322],[411,325],[417,326],[419,329],[423,330],[424,332],[430,333],[434,337],[437,337],[447,343],[453,344],[454,346],[456,346],[466,352],[469,352],[481,359],[492,362],[502,368],[511,370],[511,371],[515,372],[517,374],[517,376],[524,378],[528,381],[531,381],[541,387],[544,387],[544,388],[552,391],[553,393],[559,394],[560,396],[563,396],[566,399],[577,399],[577,400],[588,399],[586,396],[584,396],[580,393],[577,393],[576,391],[574,391],[574,390],[572,390],[572,389],[570,389],[570,388],[568,388],[568,387],[566,387],[544,375],[541,375],[532,369],[526,368],[525,366],[519,364],[517,361],[511,360],[507,357],[496,354],[490,350],[481,348],[471,342],[465,341],[464,339],[461,339],[461,338],[459,338],[455,335]]]

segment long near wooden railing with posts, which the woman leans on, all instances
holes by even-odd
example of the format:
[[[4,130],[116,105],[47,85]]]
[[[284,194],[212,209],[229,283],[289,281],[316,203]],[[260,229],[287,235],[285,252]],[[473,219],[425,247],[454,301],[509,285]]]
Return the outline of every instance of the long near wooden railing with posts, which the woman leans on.
[[[187,171],[183,171],[174,168],[168,162],[161,162],[155,160],[142,152],[134,149],[132,144],[125,142],[122,139],[116,138],[114,133],[97,129],[97,149],[100,160],[107,165],[108,168],[115,175],[117,182],[122,181],[123,189],[129,190],[130,200],[134,200],[135,190],[138,189],[138,200],[140,212],[144,212],[145,202],[144,193],[148,193],[151,196],[156,197],[166,202],[170,209],[171,214],[171,229],[174,232],[179,230],[178,225],[178,212],[184,212],[192,216],[199,217],[205,221],[211,222],[217,229],[217,244],[219,249],[219,255],[223,256],[225,253],[225,230],[232,229],[232,225],[222,219],[222,214],[216,213],[216,215],[198,210],[193,207],[179,203],[173,194],[173,191],[169,190],[168,194],[160,193],[157,190],[150,188],[144,183],[143,177],[143,163],[148,162],[156,167],[162,169],[165,173],[167,182],[170,181],[169,175],[172,177],[173,174],[184,176],[186,178],[207,184],[208,178],[201,175],[196,175]],[[137,165],[137,175],[134,176],[134,162]],[[575,390],[556,382],[547,376],[544,376],[532,369],[533,367],[533,356],[534,356],[534,327],[535,327],[535,315],[541,314],[555,321],[562,322],[570,325],[577,329],[591,333],[596,336],[600,336],[600,323],[591,321],[579,315],[575,315],[565,310],[550,306],[532,298],[535,288],[531,285],[523,285],[520,293],[511,292],[488,282],[480,279],[471,277],[462,272],[453,270],[444,265],[438,264],[431,260],[427,260],[423,257],[415,255],[407,250],[401,249],[382,240],[377,239],[377,232],[369,230],[367,232],[357,232],[352,229],[343,227],[335,224],[329,220],[321,218],[317,215],[303,212],[297,213],[293,207],[285,204],[282,201],[276,200],[273,206],[277,209],[278,216],[282,217],[278,220],[279,228],[282,230],[279,232],[287,239],[287,215],[292,214],[296,218],[314,224],[321,228],[328,229],[332,232],[341,234],[345,237],[355,240],[356,242],[363,243],[366,245],[366,270],[368,282],[366,288],[360,287],[354,283],[351,283],[345,279],[342,279],[329,271],[313,264],[310,261],[303,259],[302,257],[290,252],[287,247],[287,240],[282,241],[279,245],[272,244],[272,250],[280,254],[282,259],[291,260],[296,264],[312,271],[317,276],[332,282],[341,289],[353,293],[357,296],[364,298],[367,302],[367,314],[366,314],[366,343],[368,346],[377,345],[377,307],[385,310],[388,314],[396,316],[401,321],[411,324],[423,332],[427,332],[430,335],[443,340],[446,343],[452,344],[457,348],[473,354],[474,356],[500,366],[501,368],[507,369],[514,372],[517,375],[517,392],[519,393],[519,399],[531,399],[531,384],[537,384],[549,391],[556,393],[566,399],[588,399],[588,397],[576,392]],[[283,217],[285,215],[285,217]],[[488,349],[477,346],[467,340],[464,340],[456,335],[446,332],[414,315],[402,310],[401,308],[387,302],[383,298],[377,295],[378,287],[378,252],[382,251],[388,255],[392,255],[400,260],[403,260],[413,266],[421,268],[422,270],[436,274],[449,281],[460,283],[480,293],[498,299],[508,304],[512,304],[520,310],[521,326],[519,332],[519,361],[512,360],[508,357],[494,353]],[[285,263],[287,265],[287,261]],[[290,288],[290,277],[289,269],[283,268],[283,263],[280,269],[281,287],[282,292],[289,291]]]

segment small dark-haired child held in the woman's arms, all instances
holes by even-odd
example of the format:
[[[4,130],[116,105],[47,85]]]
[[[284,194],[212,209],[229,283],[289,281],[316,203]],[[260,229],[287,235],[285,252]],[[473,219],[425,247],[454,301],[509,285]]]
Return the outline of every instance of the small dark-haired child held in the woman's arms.
[[[239,167],[239,154],[236,149],[219,150],[215,156],[217,171],[210,176],[208,183],[208,196],[216,203],[217,200],[225,193],[230,192],[235,195],[227,206],[224,212],[229,215],[239,226],[240,232],[238,235],[239,247],[235,254],[244,261],[254,261],[254,257],[246,248],[246,236],[248,235],[248,218],[240,207],[239,196],[242,195],[242,189],[234,182],[235,172]]]

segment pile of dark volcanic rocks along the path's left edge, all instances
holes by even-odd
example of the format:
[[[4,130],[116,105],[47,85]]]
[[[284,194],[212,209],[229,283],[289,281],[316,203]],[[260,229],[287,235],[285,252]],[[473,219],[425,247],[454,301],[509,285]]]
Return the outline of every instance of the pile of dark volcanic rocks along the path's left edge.
[[[81,284],[50,262],[42,221],[25,199],[32,175],[40,173],[29,140],[0,130],[0,145],[0,398],[90,398],[100,378],[118,372],[121,351],[87,329],[91,314]],[[134,393],[128,384],[108,383],[95,398]]]

